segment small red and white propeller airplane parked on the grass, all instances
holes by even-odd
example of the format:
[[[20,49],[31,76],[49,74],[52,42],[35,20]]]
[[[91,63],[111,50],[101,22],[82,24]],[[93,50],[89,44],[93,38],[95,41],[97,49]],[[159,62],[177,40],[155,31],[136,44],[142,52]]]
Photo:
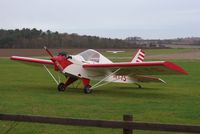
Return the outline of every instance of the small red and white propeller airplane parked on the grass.
[[[87,94],[91,93],[92,89],[110,82],[135,83],[141,88],[139,83],[142,82],[165,83],[162,79],[149,75],[187,74],[184,69],[172,62],[144,62],[145,53],[142,49],[137,50],[130,62],[117,63],[113,63],[93,49],[88,49],[77,55],[67,55],[67,53],[61,52],[57,56],[53,56],[46,47],[44,49],[51,56],[50,60],[20,56],[11,56],[11,60],[43,64],[44,68],[58,85],[58,91],[64,91],[78,79],[82,81],[84,93]],[[59,71],[68,78],[67,81],[59,83],[46,65],[53,65],[55,71]],[[91,80],[98,82],[91,86]]]

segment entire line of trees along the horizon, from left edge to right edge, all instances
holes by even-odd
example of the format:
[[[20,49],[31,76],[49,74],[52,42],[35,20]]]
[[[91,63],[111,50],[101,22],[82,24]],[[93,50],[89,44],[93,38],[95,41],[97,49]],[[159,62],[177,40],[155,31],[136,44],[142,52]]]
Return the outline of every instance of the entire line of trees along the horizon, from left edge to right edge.
[[[4,30],[0,29],[0,48],[166,48],[171,45],[200,45],[200,37],[144,40],[141,37],[128,37],[125,40],[58,33],[36,28]]]

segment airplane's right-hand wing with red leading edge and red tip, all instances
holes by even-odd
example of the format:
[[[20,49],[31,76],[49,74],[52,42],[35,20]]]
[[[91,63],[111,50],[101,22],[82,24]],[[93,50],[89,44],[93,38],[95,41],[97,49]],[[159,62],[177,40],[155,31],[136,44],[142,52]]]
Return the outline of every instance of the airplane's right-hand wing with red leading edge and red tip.
[[[141,63],[109,63],[84,64],[83,68],[90,76],[106,76],[115,72],[115,75],[170,75],[187,74],[180,66],[167,61],[141,62]]]

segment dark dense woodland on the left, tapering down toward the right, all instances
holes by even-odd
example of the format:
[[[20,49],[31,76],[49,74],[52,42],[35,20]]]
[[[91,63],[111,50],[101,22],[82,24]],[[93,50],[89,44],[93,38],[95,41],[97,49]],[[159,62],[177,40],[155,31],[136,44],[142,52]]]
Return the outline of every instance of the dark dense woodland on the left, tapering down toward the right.
[[[121,39],[58,33],[36,28],[0,29],[0,48],[136,48],[136,43]]]

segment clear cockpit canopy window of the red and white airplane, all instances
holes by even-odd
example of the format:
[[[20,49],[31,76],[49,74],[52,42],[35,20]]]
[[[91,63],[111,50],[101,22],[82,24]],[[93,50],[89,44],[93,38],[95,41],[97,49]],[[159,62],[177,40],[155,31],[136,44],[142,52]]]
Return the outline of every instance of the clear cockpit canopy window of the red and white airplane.
[[[94,61],[99,62],[100,54],[93,51],[93,50],[87,50],[79,54],[83,57],[85,61]]]

